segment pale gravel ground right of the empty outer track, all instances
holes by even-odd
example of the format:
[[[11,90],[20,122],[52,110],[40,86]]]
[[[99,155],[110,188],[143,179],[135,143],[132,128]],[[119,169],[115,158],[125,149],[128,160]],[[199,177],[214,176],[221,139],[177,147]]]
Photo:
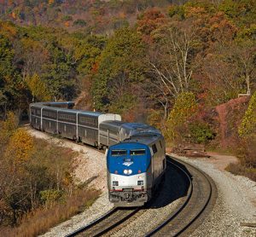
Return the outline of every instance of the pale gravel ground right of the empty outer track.
[[[220,171],[209,159],[177,158],[206,172],[218,188],[212,212],[190,236],[256,236],[256,228],[241,226],[256,223],[256,182]]]

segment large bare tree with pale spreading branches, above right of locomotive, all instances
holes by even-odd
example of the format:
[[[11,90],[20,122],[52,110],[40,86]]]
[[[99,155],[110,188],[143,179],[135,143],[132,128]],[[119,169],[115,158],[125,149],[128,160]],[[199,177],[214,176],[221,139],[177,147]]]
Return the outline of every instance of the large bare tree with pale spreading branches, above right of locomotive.
[[[195,34],[188,28],[168,24],[153,32],[154,44],[148,58],[150,82],[158,91],[164,118],[177,95],[189,90],[195,54]]]

